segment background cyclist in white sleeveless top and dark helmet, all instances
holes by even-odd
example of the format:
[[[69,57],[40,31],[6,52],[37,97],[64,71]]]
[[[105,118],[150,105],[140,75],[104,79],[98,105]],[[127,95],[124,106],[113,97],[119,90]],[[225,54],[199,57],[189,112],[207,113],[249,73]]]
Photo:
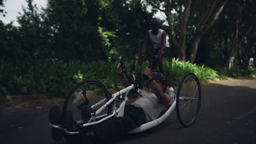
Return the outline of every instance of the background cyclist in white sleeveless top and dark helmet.
[[[142,47],[141,58],[144,59],[145,52],[148,47],[148,42],[151,40],[154,45],[153,61],[158,63],[161,73],[164,73],[164,69],[162,67],[162,57],[164,56],[165,50],[168,49],[170,45],[166,39],[166,32],[159,28],[158,20],[152,19],[150,21],[150,27],[151,29],[148,31],[144,45]],[[151,69],[156,69],[156,64],[153,64]]]

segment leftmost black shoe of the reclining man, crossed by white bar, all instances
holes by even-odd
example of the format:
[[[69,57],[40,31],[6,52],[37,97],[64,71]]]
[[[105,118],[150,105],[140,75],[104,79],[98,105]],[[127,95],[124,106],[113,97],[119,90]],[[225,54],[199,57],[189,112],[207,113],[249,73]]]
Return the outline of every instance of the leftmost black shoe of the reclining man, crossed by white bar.
[[[60,125],[60,117],[61,117],[61,110],[58,105],[53,105],[49,112],[49,122],[54,125]],[[61,141],[62,137],[64,136],[64,133],[60,129],[52,128],[51,129],[51,137],[53,137],[53,140],[56,142]]]

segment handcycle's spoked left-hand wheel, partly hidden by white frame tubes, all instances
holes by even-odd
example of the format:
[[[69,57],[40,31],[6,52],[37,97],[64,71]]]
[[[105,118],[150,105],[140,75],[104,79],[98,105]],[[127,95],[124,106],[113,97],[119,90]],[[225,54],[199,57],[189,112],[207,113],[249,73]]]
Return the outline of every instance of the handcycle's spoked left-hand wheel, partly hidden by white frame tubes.
[[[107,91],[107,88],[99,81],[96,80],[86,80],[78,83],[72,91],[66,97],[65,103],[62,107],[61,119],[65,119],[66,111],[69,110],[73,113],[74,121],[77,124],[83,124],[83,122],[88,122],[89,119],[85,119],[84,109],[88,110],[85,112],[95,112],[105,103],[99,104],[95,107],[95,105],[99,101],[108,101],[111,98],[111,94]],[[112,110],[112,105],[109,105],[102,111],[101,115],[110,115]],[[83,113],[82,113],[83,111]],[[86,113],[90,115],[90,113]],[[90,116],[88,116],[90,118]],[[65,120],[64,120],[65,121]],[[64,124],[62,121],[62,125]]]

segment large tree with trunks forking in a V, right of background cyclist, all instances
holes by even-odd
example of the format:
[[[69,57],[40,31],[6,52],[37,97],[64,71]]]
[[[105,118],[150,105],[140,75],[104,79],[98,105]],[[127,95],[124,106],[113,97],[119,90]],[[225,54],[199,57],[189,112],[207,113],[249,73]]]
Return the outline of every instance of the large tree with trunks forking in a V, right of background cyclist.
[[[210,29],[217,20],[226,2],[224,1],[150,1],[154,9],[165,13],[170,27],[173,46],[178,49],[178,57],[182,61],[194,62],[202,35]],[[175,10],[177,14],[172,14]],[[188,31],[188,28],[190,32]],[[186,39],[191,34],[191,46],[187,52]],[[188,57],[186,57],[186,52]]]

